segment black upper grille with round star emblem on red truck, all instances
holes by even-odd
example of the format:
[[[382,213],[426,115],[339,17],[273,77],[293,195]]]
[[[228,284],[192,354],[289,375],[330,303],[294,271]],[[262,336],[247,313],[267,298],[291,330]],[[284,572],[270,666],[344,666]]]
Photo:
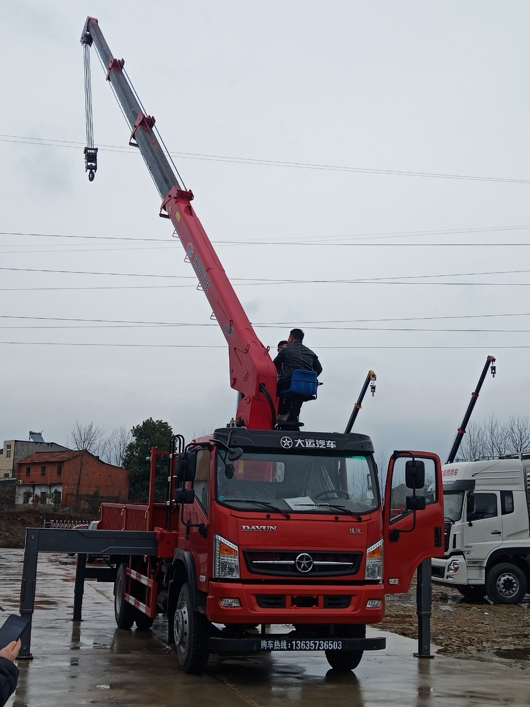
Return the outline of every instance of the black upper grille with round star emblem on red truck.
[[[243,554],[249,572],[310,578],[356,574],[363,558],[363,554],[360,552],[312,552],[307,550],[245,550]],[[307,567],[310,569],[307,570]],[[307,571],[301,571],[300,568]]]

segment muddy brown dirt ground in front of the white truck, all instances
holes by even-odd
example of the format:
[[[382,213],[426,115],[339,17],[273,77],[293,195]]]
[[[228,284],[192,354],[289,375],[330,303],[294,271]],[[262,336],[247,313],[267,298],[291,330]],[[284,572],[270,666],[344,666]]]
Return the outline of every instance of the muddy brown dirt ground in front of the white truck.
[[[466,600],[451,588],[432,585],[431,642],[456,658],[508,661],[530,667],[530,596],[522,604]],[[378,626],[418,638],[416,585],[408,594],[389,595],[386,617]]]

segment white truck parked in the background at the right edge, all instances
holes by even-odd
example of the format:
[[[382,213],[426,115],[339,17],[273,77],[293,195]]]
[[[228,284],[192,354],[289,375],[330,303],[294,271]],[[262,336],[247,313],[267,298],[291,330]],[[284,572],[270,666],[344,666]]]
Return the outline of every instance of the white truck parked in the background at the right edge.
[[[432,582],[517,604],[530,587],[530,453],[442,467],[444,559]]]

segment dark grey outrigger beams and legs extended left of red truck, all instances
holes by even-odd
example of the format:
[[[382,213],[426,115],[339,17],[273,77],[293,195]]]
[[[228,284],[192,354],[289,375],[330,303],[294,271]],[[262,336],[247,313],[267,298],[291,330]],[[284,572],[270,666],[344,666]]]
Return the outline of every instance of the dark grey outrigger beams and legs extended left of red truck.
[[[26,528],[22,582],[20,583],[20,616],[29,619],[21,636],[22,648],[18,658],[31,655],[31,622],[37,587],[37,559],[40,552],[64,552],[78,555],[74,585],[73,621],[81,621],[83,586],[86,578],[114,581],[110,567],[86,568],[86,557],[91,555],[152,555],[158,551],[154,532],[127,530],[63,530],[57,528]]]

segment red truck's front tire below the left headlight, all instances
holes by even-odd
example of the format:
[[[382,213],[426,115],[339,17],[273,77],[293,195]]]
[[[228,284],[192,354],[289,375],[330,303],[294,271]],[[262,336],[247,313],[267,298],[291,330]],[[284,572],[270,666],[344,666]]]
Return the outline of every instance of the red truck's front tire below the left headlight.
[[[206,667],[209,658],[208,619],[204,614],[192,610],[189,585],[184,583],[177,599],[177,609],[173,618],[173,633],[177,647],[177,658],[184,672],[198,673]]]

